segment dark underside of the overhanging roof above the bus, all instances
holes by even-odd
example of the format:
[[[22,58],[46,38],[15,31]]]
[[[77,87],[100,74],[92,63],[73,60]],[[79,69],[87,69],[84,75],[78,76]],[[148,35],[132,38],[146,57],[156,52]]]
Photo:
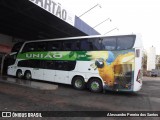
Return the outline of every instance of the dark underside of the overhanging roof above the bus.
[[[72,26],[29,0],[0,0],[0,33],[26,40],[88,35],[77,19]]]

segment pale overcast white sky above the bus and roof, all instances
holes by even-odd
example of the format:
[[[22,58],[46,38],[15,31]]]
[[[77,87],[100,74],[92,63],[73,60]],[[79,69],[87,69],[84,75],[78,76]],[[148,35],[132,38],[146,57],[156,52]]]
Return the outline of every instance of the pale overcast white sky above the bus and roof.
[[[102,35],[140,33],[144,49],[156,47],[160,55],[160,0],[58,0],[67,10],[80,16],[91,27],[110,18],[95,27]],[[116,28],[116,29],[114,29]],[[113,30],[114,29],[114,30]],[[113,31],[112,31],[113,30]]]

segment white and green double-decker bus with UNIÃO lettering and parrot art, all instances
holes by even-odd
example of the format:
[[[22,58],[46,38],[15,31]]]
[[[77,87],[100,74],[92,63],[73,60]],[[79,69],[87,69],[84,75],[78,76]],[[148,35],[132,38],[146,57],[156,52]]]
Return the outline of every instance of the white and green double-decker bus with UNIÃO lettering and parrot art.
[[[136,34],[34,40],[23,43],[7,73],[92,92],[139,91],[141,61]]]

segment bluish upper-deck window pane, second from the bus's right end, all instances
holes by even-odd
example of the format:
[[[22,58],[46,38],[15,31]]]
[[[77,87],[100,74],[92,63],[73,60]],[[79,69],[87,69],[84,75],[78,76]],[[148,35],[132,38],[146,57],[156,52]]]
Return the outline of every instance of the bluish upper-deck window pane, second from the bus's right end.
[[[115,50],[116,49],[116,37],[108,37],[102,39],[103,50]]]

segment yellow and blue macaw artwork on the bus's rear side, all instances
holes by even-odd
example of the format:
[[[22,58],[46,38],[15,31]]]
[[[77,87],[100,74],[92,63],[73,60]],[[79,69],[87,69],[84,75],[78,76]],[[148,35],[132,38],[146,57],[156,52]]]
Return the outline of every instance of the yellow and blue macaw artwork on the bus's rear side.
[[[101,78],[107,90],[133,91],[135,49],[91,51],[87,55],[91,61],[77,66],[78,71],[83,69],[87,79],[91,76]]]

